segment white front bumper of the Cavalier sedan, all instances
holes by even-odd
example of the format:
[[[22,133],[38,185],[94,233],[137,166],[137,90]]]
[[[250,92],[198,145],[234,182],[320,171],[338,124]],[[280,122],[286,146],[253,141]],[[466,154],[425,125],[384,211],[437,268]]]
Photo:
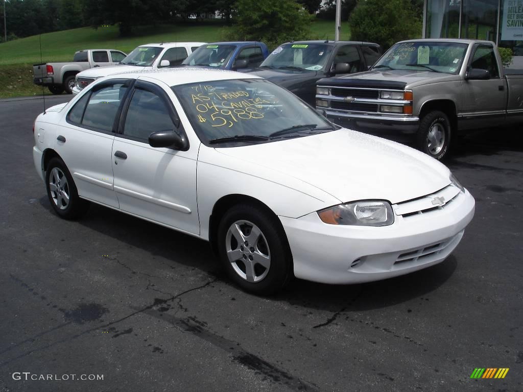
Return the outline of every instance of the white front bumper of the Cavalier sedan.
[[[474,216],[465,191],[445,209],[395,215],[390,226],[337,226],[316,212],[298,219],[280,216],[294,261],[294,275],[314,282],[346,284],[392,278],[445,260]]]

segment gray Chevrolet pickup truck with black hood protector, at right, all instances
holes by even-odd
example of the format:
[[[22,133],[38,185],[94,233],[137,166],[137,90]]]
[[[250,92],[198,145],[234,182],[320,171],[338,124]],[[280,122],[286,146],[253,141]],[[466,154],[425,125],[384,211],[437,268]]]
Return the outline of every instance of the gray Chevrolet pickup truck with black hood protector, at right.
[[[452,135],[523,123],[523,73],[504,70],[491,41],[402,41],[367,72],[320,79],[316,107],[347,128],[414,133],[441,159]]]

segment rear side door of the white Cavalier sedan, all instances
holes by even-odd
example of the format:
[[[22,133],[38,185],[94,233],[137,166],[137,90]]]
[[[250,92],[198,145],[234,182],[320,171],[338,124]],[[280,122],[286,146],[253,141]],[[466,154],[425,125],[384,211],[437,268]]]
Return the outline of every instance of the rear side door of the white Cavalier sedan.
[[[55,142],[78,194],[115,208],[119,204],[113,189],[112,143],[132,82],[112,79],[87,91],[60,122]]]

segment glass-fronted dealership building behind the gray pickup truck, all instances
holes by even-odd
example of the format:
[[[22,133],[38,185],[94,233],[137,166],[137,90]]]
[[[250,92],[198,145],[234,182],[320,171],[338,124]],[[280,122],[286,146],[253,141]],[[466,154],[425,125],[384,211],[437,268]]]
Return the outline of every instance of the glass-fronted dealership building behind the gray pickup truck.
[[[424,0],[423,38],[494,41],[523,68],[523,0]]]

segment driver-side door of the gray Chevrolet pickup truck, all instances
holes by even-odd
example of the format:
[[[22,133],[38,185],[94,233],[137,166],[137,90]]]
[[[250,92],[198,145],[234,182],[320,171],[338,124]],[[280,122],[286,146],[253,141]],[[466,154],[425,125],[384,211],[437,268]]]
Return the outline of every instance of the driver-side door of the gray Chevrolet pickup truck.
[[[492,44],[475,44],[470,57],[467,72],[472,68],[486,70],[490,79],[463,81],[462,112],[467,128],[496,125],[505,117],[507,102],[506,80],[500,77],[499,67]]]

